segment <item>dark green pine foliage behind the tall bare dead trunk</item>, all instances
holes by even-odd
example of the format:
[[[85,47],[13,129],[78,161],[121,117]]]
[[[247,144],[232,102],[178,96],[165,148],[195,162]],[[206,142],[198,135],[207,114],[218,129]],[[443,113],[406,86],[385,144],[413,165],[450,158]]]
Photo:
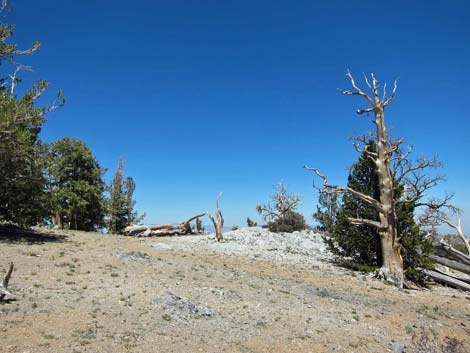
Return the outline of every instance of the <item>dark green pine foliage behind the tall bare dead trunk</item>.
[[[376,151],[373,141],[367,146],[369,151]],[[348,177],[348,186],[380,198],[379,178],[374,161],[363,153],[353,165]],[[398,200],[401,195],[396,195]],[[399,203],[396,212],[398,217],[398,234],[402,244],[405,274],[408,279],[423,282],[420,272],[422,268],[431,268],[428,255],[432,253],[431,242],[420,232],[414,221],[415,206]],[[375,227],[367,225],[352,225],[348,217],[379,220],[377,211],[369,204],[345,194],[338,212],[338,218],[333,232],[325,237],[328,249],[341,262],[353,268],[373,269],[382,265],[380,235]]]

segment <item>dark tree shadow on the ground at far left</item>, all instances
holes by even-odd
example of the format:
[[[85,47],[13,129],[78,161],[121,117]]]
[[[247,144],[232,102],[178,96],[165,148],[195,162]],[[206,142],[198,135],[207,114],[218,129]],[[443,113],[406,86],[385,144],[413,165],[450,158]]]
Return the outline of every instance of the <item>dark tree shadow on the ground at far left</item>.
[[[51,242],[64,242],[65,234],[54,234],[34,229],[24,229],[15,225],[0,225],[0,243],[26,243],[44,244]]]

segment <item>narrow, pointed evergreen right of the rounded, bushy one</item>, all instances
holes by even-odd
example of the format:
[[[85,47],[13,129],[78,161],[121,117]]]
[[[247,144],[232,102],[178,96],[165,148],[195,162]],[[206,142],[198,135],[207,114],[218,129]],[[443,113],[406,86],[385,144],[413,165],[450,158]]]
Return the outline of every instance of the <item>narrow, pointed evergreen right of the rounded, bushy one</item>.
[[[134,211],[134,191],[134,179],[129,176],[124,179],[124,160],[121,158],[110,187],[108,224],[110,233],[122,233],[124,228],[139,223],[143,219],[144,216],[140,216],[137,211]]]

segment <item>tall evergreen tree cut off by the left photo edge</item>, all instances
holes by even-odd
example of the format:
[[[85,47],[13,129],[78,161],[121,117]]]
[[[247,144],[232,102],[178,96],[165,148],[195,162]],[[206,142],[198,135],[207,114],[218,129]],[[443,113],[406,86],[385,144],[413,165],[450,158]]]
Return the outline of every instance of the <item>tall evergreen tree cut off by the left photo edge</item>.
[[[62,92],[50,107],[36,107],[47,82],[38,81],[18,95],[19,73],[24,66],[17,57],[31,54],[40,47],[34,42],[30,49],[19,50],[7,43],[14,26],[3,23],[7,1],[0,4],[0,222],[27,226],[45,216],[45,178],[43,175],[44,146],[39,140],[45,115],[63,105]]]

